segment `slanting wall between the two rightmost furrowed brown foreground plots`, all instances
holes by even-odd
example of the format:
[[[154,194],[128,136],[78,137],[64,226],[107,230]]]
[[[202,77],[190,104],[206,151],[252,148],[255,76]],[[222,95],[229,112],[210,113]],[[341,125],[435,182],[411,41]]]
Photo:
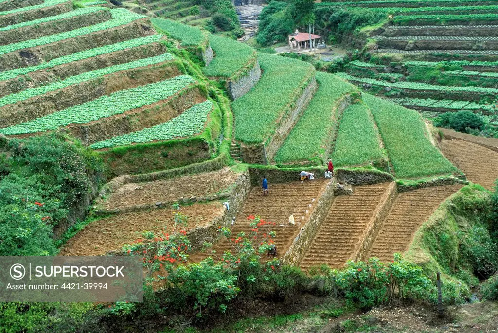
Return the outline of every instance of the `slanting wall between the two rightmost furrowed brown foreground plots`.
[[[375,214],[368,222],[365,232],[360,237],[360,241],[355,245],[355,249],[351,254],[350,260],[356,261],[367,259],[366,255],[373,244],[373,240],[375,240],[375,237],[377,236],[380,227],[382,226],[382,222],[387,217],[387,214],[389,214],[389,211],[396,197],[396,184],[392,183],[382,195],[380,203],[375,209]]]

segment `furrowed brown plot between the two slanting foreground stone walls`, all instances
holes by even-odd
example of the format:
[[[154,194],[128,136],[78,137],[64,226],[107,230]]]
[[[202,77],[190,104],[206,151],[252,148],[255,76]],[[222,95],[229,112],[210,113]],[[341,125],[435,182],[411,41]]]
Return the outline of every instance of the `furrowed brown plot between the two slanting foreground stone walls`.
[[[353,195],[334,199],[326,219],[301,262],[301,268],[328,264],[341,268],[361,241],[380,199],[392,183],[357,186]]]

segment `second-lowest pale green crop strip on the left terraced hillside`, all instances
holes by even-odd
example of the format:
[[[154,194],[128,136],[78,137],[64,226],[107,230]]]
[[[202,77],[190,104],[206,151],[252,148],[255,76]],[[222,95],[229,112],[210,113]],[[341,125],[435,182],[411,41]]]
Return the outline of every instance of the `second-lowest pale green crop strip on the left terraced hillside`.
[[[122,90],[96,100],[0,129],[6,135],[54,130],[71,123],[84,124],[168,99],[195,81],[187,75]]]

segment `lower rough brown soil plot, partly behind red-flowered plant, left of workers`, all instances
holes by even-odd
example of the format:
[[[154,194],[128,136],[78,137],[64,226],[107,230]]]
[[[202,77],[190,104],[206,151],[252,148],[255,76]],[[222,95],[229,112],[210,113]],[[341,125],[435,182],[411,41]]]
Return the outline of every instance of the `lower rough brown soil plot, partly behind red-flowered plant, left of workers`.
[[[188,217],[188,228],[206,225],[223,215],[223,204],[211,202],[181,208]],[[62,247],[62,255],[104,255],[120,250],[124,244],[140,238],[143,231],[159,233],[172,228],[173,209],[157,209],[149,212],[127,213],[88,224]],[[185,228],[184,228],[185,229]]]

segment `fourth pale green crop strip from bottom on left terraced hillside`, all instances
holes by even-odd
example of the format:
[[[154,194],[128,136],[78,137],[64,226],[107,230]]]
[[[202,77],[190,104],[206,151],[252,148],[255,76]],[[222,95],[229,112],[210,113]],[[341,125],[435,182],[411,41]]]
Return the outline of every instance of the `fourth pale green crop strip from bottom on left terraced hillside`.
[[[102,46],[102,47],[96,47],[93,49],[88,49],[88,50],[72,53],[72,54],[69,54],[67,56],[52,59],[48,62],[43,62],[43,63],[36,65],[36,66],[15,68],[15,69],[0,73],[0,81],[13,79],[19,75],[25,75],[28,73],[42,70],[42,69],[48,69],[48,68],[53,68],[55,66],[68,64],[68,63],[73,62],[73,61],[93,58],[93,57],[96,57],[96,56],[102,55],[102,54],[107,54],[107,53],[111,53],[111,52],[116,52],[116,51],[121,51],[124,49],[129,49],[129,48],[133,48],[133,47],[137,47],[137,46],[146,45],[149,43],[157,42],[163,37],[164,37],[164,35],[155,34],[155,35],[150,35],[150,36],[146,36],[146,37],[129,39],[129,40],[126,40],[126,41],[120,42],[120,43],[110,44],[110,45],[106,45],[106,46]]]

